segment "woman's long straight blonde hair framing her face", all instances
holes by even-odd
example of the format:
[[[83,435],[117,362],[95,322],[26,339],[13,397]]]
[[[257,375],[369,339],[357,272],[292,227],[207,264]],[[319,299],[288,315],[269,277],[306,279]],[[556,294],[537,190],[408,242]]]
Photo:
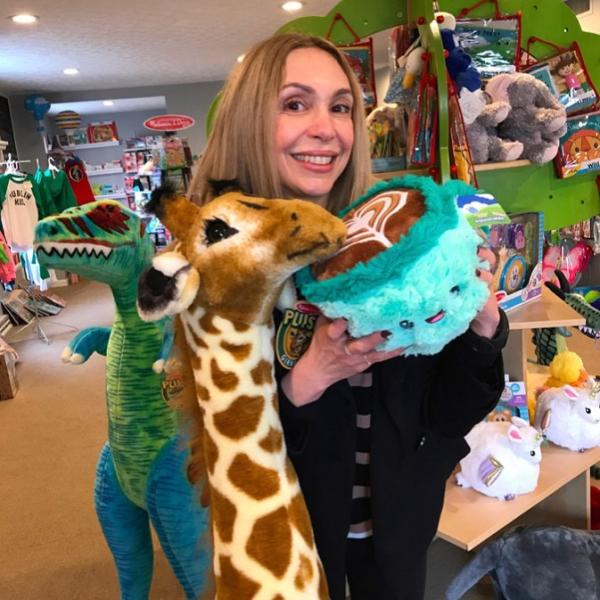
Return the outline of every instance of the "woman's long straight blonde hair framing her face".
[[[256,44],[229,76],[190,186],[194,201],[204,204],[211,199],[210,179],[237,179],[246,192],[264,198],[285,197],[274,152],[278,96],[287,56],[300,48],[318,48],[330,54],[348,77],[354,98],[352,153],[329,194],[327,208],[337,212],[369,186],[365,113],[362,93],[352,69],[327,40],[286,33]]]

